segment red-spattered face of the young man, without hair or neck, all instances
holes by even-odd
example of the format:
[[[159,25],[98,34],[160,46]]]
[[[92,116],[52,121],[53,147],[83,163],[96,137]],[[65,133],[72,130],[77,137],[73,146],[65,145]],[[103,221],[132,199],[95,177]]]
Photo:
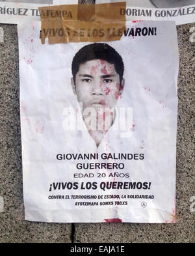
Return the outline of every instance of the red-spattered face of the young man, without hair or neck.
[[[122,95],[123,85],[123,80],[120,85],[120,77],[114,64],[102,59],[81,64],[75,77],[75,84],[72,81],[73,92],[77,94],[78,102],[83,103],[83,109],[115,107]]]

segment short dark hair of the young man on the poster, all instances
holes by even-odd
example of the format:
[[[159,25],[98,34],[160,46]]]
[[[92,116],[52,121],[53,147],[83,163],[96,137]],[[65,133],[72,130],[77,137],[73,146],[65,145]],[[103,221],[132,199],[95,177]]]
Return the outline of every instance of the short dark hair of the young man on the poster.
[[[122,57],[116,50],[114,50],[114,48],[105,43],[88,44],[77,51],[72,61],[72,75],[74,83],[80,64],[86,63],[86,61],[92,61],[94,59],[103,59],[103,61],[114,64],[114,68],[119,74],[121,85],[124,72]]]

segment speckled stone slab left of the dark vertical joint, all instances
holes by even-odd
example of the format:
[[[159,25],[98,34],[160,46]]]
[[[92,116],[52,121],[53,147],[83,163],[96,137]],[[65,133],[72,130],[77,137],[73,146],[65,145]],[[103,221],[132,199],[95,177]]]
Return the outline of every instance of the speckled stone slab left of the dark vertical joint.
[[[0,26],[0,242],[71,242],[71,224],[24,220],[17,25]]]

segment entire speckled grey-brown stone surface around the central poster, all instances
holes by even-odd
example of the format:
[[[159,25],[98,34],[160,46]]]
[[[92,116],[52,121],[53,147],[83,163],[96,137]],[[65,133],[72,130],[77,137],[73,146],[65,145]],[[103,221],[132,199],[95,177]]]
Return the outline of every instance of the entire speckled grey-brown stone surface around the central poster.
[[[24,220],[17,25],[0,24],[0,27],[4,31],[4,42],[0,40],[0,203],[4,203],[3,212],[0,207],[0,242],[195,242],[195,205],[192,205],[192,201],[195,202],[195,36],[192,35],[195,23],[177,26],[180,63],[175,223],[40,223]]]

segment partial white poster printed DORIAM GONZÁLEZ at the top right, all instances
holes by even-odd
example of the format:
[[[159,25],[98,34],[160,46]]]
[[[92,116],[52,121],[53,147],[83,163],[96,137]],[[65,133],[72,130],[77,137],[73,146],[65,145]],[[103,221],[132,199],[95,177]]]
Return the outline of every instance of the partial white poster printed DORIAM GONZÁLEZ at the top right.
[[[96,0],[116,3],[123,0]],[[120,10],[127,20],[172,20],[177,25],[195,22],[195,0],[127,0],[126,10]]]

